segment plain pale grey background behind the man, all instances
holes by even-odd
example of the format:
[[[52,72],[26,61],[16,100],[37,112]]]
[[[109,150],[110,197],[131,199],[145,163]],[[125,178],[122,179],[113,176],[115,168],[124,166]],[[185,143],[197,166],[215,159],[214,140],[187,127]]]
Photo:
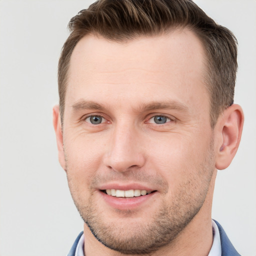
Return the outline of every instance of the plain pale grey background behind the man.
[[[91,0],[0,0],[0,256],[65,255],[82,220],[57,161],[52,106],[69,19]],[[239,42],[235,102],[245,123],[218,172],[212,217],[256,255],[256,1],[195,0]]]

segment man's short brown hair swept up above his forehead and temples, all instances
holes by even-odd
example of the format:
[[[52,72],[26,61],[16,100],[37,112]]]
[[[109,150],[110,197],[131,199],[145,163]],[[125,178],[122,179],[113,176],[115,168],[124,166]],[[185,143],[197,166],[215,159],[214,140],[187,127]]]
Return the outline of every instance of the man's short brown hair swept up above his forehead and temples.
[[[58,63],[58,92],[61,120],[70,56],[86,34],[126,42],[141,35],[154,36],[175,28],[188,28],[201,40],[206,58],[205,82],[210,95],[211,126],[233,102],[237,70],[237,41],[227,28],[218,25],[191,0],[97,0],[69,21],[70,35]]]

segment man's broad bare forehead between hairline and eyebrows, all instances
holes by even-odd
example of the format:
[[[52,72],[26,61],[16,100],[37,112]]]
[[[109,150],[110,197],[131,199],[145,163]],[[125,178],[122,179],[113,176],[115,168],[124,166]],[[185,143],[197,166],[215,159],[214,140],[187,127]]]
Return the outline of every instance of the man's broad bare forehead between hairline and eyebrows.
[[[70,58],[65,105],[97,95],[101,101],[125,98],[131,104],[169,97],[189,104],[193,99],[208,107],[204,58],[200,40],[186,29],[125,43],[86,35]]]

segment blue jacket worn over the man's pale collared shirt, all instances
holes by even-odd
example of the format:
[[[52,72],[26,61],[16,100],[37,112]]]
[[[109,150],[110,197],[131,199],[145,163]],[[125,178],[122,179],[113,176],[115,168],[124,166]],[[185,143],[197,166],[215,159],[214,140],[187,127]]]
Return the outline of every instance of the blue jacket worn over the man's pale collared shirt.
[[[219,230],[220,242],[221,242],[221,256],[241,256],[236,251],[236,249],[234,248],[234,246],[232,245],[230,240],[228,239],[228,237],[227,237],[224,229],[222,228],[222,226],[216,220],[214,220],[214,221],[217,224],[218,230]],[[67,256],[74,256],[77,243],[78,243],[82,233],[83,232],[80,232],[79,235],[77,236],[77,238],[75,239],[75,241],[73,243],[73,246],[70,249]]]

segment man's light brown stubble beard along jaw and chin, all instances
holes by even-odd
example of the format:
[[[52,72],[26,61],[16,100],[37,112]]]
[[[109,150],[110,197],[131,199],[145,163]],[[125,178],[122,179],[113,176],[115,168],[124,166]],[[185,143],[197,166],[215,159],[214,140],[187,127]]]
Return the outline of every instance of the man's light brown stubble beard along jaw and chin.
[[[106,247],[123,254],[150,254],[166,244],[173,243],[176,236],[200,210],[214,170],[212,159],[213,149],[211,144],[208,158],[197,166],[196,173],[202,179],[192,177],[180,184],[179,193],[170,204],[163,201],[150,222],[147,222],[146,225],[136,223],[135,228],[134,225],[127,224],[125,226],[125,223],[107,223],[104,221],[96,203],[93,202],[93,193],[91,192],[86,203],[82,203],[82,198],[76,196],[75,184],[72,184],[71,178],[68,177],[67,166],[66,172],[76,208],[98,241]],[[200,183],[198,183],[198,180],[200,180]],[[191,191],[193,189],[198,190],[198,186],[203,186],[203,189],[199,189],[197,195],[191,197]],[[132,212],[127,211],[126,215],[127,218],[132,217]],[[127,222],[129,223],[129,221]]]

